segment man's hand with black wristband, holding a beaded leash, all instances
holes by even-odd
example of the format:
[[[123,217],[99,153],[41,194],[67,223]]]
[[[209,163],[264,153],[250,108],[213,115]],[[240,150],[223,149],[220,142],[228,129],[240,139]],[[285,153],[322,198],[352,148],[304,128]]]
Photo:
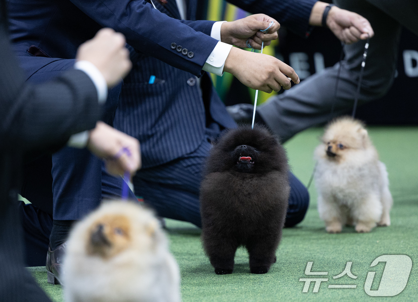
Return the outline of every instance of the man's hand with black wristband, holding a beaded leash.
[[[315,3],[309,18],[309,24],[321,26],[322,14],[328,3],[318,1]],[[372,26],[366,18],[357,13],[343,10],[333,6],[326,18],[326,25],[334,35],[345,44],[352,44],[375,35]]]

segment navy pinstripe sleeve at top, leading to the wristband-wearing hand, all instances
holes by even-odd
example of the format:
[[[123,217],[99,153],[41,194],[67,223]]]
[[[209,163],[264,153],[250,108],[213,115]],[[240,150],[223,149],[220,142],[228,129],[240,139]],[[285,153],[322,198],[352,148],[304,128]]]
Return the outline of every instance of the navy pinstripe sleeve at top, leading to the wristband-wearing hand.
[[[275,18],[280,25],[305,36],[311,10],[317,0],[227,0],[247,12],[263,13]]]

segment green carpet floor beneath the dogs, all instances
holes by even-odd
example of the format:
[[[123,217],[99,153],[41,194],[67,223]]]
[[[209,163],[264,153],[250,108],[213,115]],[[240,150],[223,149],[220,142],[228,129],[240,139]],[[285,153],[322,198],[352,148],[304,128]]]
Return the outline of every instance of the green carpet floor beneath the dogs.
[[[285,144],[293,173],[305,184],[314,168],[313,150],[322,129],[309,129]],[[217,276],[205,257],[200,231],[191,224],[167,220],[171,250],[181,269],[183,301],[416,301],[418,297],[418,127],[370,127],[370,136],[381,160],[386,163],[390,190],[394,198],[392,225],[378,227],[368,234],[344,228],[329,235],[316,210],[316,191],[311,186],[311,204],[306,218],[297,227],[283,230],[277,262],[268,274],[250,274],[247,252],[237,251],[234,273]],[[380,283],[385,263],[370,268],[372,261],[385,254],[406,254],[413,261],[409,281],[395,297],[370,297],[364,292],[368,271],[376,271],[372,289]],[[328,271],[327,276],[306,276],[306,263],[314,261],[312,271]],[[352,261],[351,279],[340,274]],[[61,286],[46,283],[44,268],[30,268],[54,301],[63,301]],[[313,293],[314,283],[303,293],[299,278],[329,278]],[[356,284],[357,288],[332,289],[329,284]]]

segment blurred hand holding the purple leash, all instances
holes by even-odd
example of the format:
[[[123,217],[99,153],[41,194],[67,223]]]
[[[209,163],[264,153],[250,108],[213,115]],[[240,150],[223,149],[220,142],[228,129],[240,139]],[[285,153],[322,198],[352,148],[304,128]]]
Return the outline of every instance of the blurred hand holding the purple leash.
[[[103,158],[106,170],[115,176],[123,175],[125,172],[134,175],[141,168],[138,139],[130,137],[102,121],[98,121],[96,128],[90,132],[87,148],[94,155]],[[124,148],[129,152],[121,152]]]

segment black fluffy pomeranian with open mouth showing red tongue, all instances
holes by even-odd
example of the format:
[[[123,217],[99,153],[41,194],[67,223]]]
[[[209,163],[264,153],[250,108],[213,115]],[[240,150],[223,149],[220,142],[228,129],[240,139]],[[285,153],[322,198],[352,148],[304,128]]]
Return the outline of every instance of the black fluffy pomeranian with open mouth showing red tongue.
[[[276,261],[289,198],[285,150],[263,126],[240,126],[221,137],[207,158],[200,187],[202,241],[215,273],[231,274],[245,246],[250,271]]]

